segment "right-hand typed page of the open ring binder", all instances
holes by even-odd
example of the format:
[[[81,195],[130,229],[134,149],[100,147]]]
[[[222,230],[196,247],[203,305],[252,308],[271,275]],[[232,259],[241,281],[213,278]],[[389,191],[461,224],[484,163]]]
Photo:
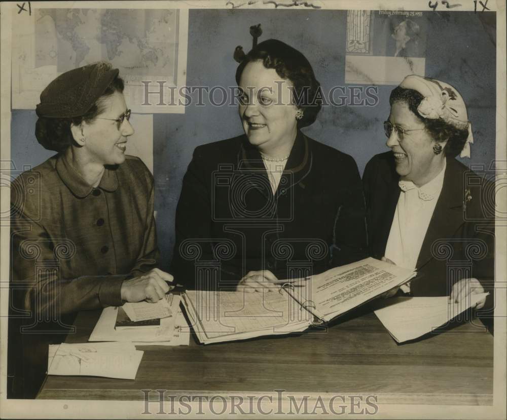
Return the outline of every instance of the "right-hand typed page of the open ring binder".
[[[413,270],[366,258],[314,275],[307,287],[315,313],[329,321],[414,276]]]

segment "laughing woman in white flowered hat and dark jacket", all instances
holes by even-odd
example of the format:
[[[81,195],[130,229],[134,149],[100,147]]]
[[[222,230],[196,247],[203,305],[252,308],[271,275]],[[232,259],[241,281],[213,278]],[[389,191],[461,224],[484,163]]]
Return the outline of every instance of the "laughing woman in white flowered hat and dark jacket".
[[[411,296],[459,302],[491,290],[494,185],[455,159],[469,157],[473,142],[462,97],[447,83],[410,75],[389,103],[391,151],[374,156],[363,176],[370,254],[417,270],[402,286]]]

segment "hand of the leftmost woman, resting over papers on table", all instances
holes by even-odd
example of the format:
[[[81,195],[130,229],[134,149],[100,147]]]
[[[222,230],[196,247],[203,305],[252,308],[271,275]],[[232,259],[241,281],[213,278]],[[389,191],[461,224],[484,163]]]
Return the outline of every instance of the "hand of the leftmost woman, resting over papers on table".
[[[125,280],[122,284],[122,300],[126,302],[147,301],[155,303],[174,288],[174,286],[169,286],[166,283],[172,280],[173,277],[169,273],[154,268],[142,276]]]

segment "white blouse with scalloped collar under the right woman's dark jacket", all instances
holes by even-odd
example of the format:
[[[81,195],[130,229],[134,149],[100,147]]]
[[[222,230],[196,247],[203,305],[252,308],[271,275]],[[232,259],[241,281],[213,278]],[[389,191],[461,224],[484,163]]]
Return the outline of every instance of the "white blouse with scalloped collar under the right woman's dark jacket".
[[[392,219],[385,257],[394,264],[416,268],[422,242],[444,185],[446,161],[442,171],[427,184],[417,188],[411,181],[400,181],[400,198]],[[410,283],[403,285],[410,291]]]

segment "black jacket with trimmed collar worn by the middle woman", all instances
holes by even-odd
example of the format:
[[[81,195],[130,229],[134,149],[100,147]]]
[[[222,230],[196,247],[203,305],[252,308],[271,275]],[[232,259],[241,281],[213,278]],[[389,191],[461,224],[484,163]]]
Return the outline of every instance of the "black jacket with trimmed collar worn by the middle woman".
[[[245,135],[199,146],[176,209],[171,272],[188,288],[236,287],[251,270],[301,277],[366,256],[354,159],[298,132],[276,194]]]

